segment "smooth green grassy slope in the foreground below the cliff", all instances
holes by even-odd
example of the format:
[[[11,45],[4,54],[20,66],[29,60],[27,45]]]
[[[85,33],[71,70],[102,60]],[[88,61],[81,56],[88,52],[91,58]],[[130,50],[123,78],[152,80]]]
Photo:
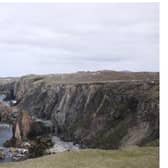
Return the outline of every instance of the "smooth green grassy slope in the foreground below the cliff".
[[[82,150],[44,156],[17,163],[1,164],[0,168],[158,168],[159,148],[123,150]]]

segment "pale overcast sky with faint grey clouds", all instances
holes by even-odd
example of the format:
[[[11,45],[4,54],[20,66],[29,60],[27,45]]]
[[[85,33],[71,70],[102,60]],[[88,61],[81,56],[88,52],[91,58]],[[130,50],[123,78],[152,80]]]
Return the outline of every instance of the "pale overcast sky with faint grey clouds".
[[[159,71],[159,3],[0,3],[0,77]]]

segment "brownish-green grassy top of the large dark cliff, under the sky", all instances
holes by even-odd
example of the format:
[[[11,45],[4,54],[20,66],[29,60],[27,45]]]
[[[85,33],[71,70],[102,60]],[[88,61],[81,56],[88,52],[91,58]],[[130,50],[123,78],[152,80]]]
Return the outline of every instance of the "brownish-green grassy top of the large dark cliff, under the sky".
[[[106,83],[118,80],[159,80],[159,72],[96,71],[67,74],[26,75],[22,80],[48,84]]]

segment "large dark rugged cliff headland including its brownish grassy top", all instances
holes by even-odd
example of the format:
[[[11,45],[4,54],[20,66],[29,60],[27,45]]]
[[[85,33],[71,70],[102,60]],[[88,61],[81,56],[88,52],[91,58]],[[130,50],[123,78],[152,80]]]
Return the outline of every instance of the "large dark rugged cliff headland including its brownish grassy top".
[[[17,107],[51,120],[64,140],[110,149],[159,138],[158,73],[26,76],[12,86]]]

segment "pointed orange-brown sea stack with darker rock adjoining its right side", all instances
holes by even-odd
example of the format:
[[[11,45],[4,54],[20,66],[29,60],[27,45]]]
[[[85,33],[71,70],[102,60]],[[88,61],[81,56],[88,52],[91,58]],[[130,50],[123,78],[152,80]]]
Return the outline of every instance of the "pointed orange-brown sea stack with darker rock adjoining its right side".
[[[44,121],[37,118],[32,118],[29,113],[20,111],[15,124],[13,125],[13,137],[4,143],[6,147],[31,147],[29,140],[37,141],[41,136],[41,140],[45,141],[46,137],[52,133],[53,125],[51,121]],[[40,141],[41,142],[41,141]],[[43,142],[42,142],[43,143]],[[49,144],[48,144],[49,145]]]

